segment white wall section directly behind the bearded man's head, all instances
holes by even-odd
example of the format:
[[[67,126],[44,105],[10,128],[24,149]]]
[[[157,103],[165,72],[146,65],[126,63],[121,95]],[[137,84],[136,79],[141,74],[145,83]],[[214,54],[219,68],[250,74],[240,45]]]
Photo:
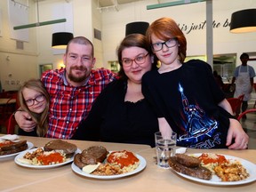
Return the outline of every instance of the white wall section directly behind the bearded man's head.
[[[90,39],[92,44],[94,44],[94,54],[97,59],[95,68],[101,68],[103,60],[102,45],[99,40],[93,38],[93,28],[101,30],[101,15],[100,12],[95,11],[97,10],[96,2],[97,1],[95,0],[73,0],[68,3],[64,0],[43,1],[40,3],[40,10],[42,10],[40,11],[42,12],[42,16],[40,18],[42,20],[56,20],[56,18],[52,18],[52,6],[71,4],[73,9],[72,28],[74,28],[74,30],[64,32],[72,32],[74,36],[86,36]],[[94,12],[92,12],[93,10]],[[49,12],[49,14],[45,14],[45,12]],[[60,9],[60,12],[63,12],[63,10]],[[62,50],[60,54],[52,55],[52,28],[55,27],[55,25],[38,28],[38,42],[40,49],[40,56],[38,60],[39,63],[52,63],[53,68],[60,68],[60,63],[62,63],[62,57],[65,50]],[[40,38],[40,36],[44,36],[44,38]]]

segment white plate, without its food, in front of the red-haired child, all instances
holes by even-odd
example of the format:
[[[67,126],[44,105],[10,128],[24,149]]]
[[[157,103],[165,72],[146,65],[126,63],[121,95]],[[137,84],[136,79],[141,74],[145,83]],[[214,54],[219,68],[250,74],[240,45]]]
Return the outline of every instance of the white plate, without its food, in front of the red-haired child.
[[[189,155],[201,156],[202,154],[200,153],[200,154],[189,154]],[[241,164],[243,164],[244,168],[250,174],[250,176],[248,178],[246,178],[245,180],[221,181],[217,175],[212,175],[211,180],[202,180],[202,179],[188,176],[188,175],[180,173],[180,172],[176,172],[176,173],[179,174],[181,177],[187,178],[188,180],[195,180],[197,182],[201,182],[204,184],[220,185],[220,186],[242,185],[242,184],[249,183],[249,182],[256,180],[256,164],[252,164],[252,162],[249,162],[247,160],[244,160],[244,159],[236,157],[236,156],[226,156],[226,155],[222,155],[222,154],[220,154],[220,155],[225,156],[226,159],[231,160],[231,162],[235,161],[235,160],[239,161]],[[172,170],[172,171],[175,172],[174,170]]]

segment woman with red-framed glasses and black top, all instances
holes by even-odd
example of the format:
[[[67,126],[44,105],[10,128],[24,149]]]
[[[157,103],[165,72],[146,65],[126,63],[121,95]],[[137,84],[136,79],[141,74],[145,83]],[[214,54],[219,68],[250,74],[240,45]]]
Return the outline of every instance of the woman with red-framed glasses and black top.
[[[146,37],[132,34],[117,47],[119,79],[108,84],[73,139],[155,145],[156,114],[141,92],[141,78],[156,68]]]

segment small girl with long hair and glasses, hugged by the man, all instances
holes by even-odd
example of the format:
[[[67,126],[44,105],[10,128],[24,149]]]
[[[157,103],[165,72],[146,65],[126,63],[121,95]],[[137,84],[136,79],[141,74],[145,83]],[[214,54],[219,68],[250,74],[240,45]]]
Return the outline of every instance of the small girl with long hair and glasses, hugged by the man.
[[[18,92],[20,108],[28,112],[28,119],[36,124],[33,132],[25,132],[19,128],[18,134],[44,137],[48,130],[48,110],[50,96],[39,79],[25,82]]]

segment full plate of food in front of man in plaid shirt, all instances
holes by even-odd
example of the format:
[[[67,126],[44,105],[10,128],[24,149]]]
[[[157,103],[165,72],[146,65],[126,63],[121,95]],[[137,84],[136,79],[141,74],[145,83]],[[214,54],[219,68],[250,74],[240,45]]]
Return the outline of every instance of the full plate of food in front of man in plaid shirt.
[[[75,144],[63,140],[52,140],[42,148],[33,148],[20,153],[14,162],[22,167],[49,169],[73,162],[81,150]]]

